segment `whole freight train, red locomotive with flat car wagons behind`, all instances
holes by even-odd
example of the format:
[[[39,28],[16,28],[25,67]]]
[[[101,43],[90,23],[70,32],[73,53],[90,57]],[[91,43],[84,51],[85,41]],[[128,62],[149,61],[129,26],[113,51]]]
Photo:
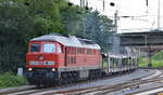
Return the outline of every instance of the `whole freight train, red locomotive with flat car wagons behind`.
[[[75,36],[46,35],[29,41],[26,78],[30,84],[55,85],[96,79],[137,68],[136,56],[108,54],[100,46]]]

